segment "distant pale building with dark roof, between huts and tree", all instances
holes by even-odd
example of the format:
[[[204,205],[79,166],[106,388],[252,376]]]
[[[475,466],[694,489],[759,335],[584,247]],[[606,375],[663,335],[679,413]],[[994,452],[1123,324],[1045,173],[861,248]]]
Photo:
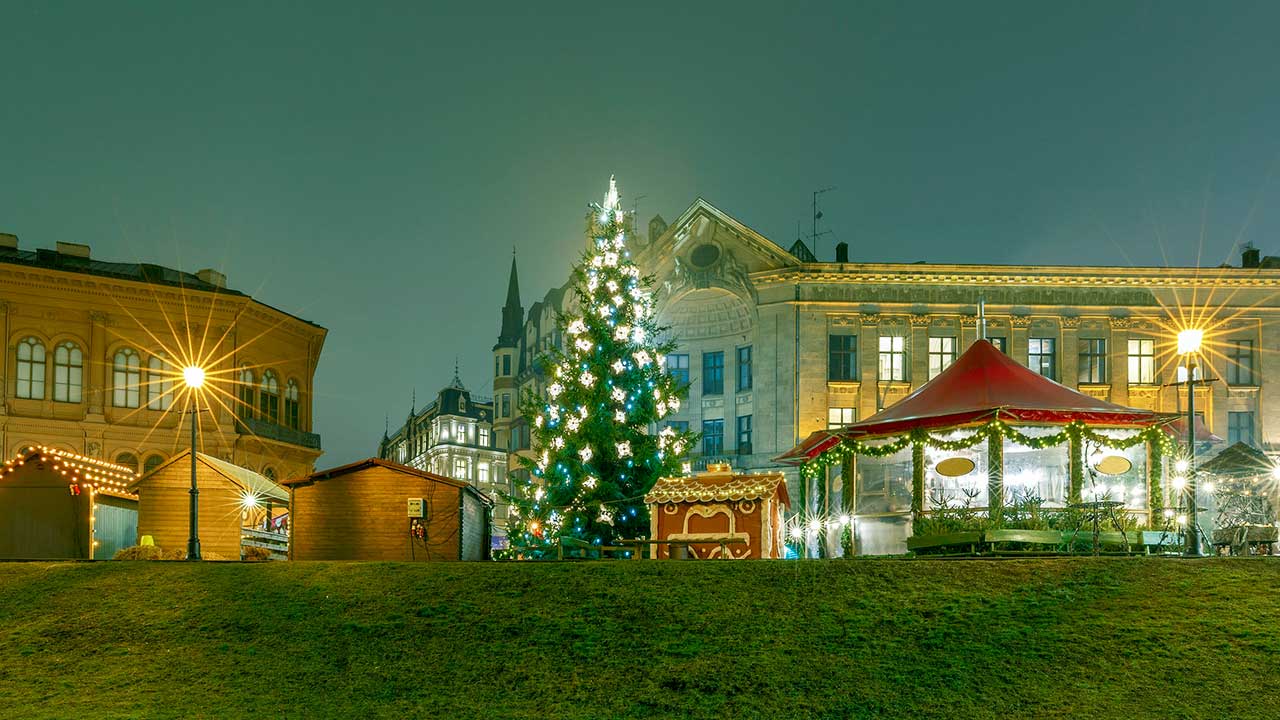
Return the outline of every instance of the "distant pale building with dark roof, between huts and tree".
[[[497,502],[493,514],[494,537],[506,537],[509,488],[507,451],[493,434],[494,401],[472,397],[457,373],[435,401],[417,410],[413,402],[404,424],[383,434],[378,457],[401,465],[462,480]]]

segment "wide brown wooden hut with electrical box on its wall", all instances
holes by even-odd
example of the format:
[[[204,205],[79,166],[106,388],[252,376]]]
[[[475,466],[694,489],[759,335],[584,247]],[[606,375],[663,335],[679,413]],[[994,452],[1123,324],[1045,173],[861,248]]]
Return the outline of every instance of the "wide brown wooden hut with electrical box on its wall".
[[[291,560],[488,560],[493,501],[475,487],[370,457],[285,480]]]

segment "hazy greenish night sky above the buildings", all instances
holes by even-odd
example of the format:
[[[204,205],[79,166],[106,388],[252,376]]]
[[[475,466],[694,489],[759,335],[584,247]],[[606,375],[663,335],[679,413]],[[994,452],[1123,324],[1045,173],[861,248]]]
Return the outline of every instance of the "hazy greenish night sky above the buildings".
[[[0,232],[329,328],[321,468],[490,392],[512,246],[527,309],[611,173],[782,245],[836,186],[855,260],[1280,254],[1277,3],[221,5],[0,5]]]

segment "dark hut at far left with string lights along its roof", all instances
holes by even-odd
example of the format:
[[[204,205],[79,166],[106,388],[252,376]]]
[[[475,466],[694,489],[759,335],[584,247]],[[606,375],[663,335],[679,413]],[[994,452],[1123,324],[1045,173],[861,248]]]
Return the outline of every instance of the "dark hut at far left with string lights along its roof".
[[[137,538],[133,470],[51,447],[0,466],[0,560],[110,560]]]

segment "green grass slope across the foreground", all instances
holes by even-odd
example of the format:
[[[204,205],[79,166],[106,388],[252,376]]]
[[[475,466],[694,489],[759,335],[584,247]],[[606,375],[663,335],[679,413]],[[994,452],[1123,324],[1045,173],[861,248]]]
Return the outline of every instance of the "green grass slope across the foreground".
[[[0,564],[4,717],[1272,717],[1280,561]]]

